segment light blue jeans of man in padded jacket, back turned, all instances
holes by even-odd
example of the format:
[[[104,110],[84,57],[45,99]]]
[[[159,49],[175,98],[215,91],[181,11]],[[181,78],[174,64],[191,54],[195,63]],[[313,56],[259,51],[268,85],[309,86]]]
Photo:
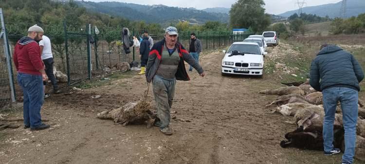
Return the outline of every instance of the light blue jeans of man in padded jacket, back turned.
[[[357,90],[335,87],[323,90],[323,107],[325,117],[323,119],[323,144],[325,151],[331,151],[333,147],[333,123],[335,119],[337,102],[340,101],[345,128],[345,152],[342,163],[352,164],[356,146],[356,123],[358,117]]]

